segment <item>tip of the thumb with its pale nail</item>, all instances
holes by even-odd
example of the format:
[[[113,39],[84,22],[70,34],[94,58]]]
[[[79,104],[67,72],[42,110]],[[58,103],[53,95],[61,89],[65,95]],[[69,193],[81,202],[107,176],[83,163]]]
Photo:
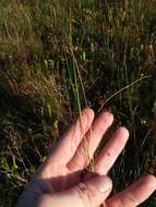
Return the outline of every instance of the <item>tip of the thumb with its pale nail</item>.
[[[95,186],[99,192],[105,193],[112,187],[112,181],[108,176],[95,178]]]

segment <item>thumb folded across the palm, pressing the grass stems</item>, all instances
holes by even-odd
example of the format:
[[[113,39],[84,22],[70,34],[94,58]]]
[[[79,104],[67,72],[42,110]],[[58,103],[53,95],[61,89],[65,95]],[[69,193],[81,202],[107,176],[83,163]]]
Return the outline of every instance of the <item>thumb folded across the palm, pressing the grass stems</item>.
[[[108,176],[96,176],[79,185],[39,198],[38,207],[98,207],[109,196],[112,182]]]

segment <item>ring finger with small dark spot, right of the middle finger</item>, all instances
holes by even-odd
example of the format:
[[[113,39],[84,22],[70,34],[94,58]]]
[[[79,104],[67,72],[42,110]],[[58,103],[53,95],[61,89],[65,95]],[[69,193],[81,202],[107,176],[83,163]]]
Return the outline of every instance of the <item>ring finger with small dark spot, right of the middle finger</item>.
[[[129,131],[125,127],[119,127],[112,137],[108,141],[104,150],[95,158],[95,172],[105,175],[113,166],[118,156],[124,148],[129,138]]]

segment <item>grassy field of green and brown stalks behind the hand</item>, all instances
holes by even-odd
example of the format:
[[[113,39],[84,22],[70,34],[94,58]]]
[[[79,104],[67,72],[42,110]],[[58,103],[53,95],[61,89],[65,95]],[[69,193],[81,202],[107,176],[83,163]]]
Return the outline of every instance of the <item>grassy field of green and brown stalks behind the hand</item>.
[[[156,1],[0,0],[0,207],[81,109],[130,130],[115,192],[156,174]],[[108,134],[108,136],[109,136]],[[144,205],[154,207],[153,196]]]

